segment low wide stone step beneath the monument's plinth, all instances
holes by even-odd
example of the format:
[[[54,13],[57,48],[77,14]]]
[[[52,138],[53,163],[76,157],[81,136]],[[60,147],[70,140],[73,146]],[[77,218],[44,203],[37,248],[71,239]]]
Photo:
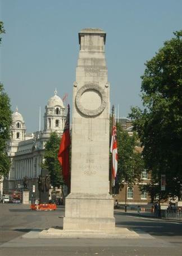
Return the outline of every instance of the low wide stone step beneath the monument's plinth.
[[[138,233],[130,231],[128,228],[116,227],[115,230],[64,230],[57,228],[49,228],[39,233],[39,238],[45,239],[124,239],[124,238],[139,238]]]

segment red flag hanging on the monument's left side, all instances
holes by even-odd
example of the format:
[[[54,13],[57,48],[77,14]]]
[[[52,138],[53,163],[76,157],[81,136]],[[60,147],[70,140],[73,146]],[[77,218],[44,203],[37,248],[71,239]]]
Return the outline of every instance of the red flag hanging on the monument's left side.
[[[66,117],[65,128],[62,134],[60,149],[58,152],[58,160],[62,166],[63,180],[70,187],[70,105],[68,107],[68,113]]]

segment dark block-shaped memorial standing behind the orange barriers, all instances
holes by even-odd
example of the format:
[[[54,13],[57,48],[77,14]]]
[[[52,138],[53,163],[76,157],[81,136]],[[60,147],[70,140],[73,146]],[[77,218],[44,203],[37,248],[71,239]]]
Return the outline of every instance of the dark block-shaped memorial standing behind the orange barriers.
[[[38,189],[39,189],[39,204],[49,203],[49,188],[51,179],[48,170],[41,170],[41,175],[38,179]]]

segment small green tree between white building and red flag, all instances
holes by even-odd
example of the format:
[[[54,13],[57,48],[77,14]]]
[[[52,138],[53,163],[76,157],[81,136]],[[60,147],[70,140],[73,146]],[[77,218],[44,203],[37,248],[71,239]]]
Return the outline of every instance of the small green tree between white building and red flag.
[[[60,147],[60,136],[54,131],[45,145],[44,162],[42,168],[49,171],[51,185],[60,187],[63,184],[62,169],[57,154]]]

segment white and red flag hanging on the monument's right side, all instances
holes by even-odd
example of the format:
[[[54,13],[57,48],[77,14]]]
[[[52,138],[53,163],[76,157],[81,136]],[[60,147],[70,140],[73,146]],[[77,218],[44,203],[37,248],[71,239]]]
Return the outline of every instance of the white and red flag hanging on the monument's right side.
[[[112,179],[113,186],[115,186],[115,179],[117,174],[117,136],[116,136],[116,124],[113,123],[112,135],[111,135],[111,153],[112,153]]]

